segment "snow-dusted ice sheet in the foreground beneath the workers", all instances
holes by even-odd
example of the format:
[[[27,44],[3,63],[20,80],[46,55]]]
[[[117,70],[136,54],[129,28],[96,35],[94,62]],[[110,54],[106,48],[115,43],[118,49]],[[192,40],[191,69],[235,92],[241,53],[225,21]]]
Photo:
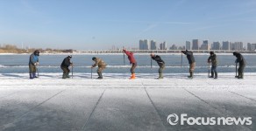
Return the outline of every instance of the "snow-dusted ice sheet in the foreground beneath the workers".
[[[256,73],[61,73],[0,74],[0,130],[256,130]],[[169,114],[189,117],[252,117],[251,125],[170,125]]]

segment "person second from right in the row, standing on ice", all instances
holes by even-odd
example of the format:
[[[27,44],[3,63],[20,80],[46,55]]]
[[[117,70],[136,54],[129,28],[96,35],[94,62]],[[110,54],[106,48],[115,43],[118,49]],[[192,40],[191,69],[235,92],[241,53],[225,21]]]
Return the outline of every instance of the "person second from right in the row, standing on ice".
[[[210,78],[217,79],[217,56],[214,52],[210,52],[210,57],[208,58],[208,63],[211,63],[211,76]],[[214,77],[215,74],[215,77]]]

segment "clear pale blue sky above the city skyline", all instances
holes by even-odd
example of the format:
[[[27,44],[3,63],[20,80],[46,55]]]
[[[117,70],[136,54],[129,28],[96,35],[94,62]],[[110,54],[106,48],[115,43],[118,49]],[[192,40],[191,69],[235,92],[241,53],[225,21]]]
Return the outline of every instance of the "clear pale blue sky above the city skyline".
[[[0,0],[0,44],[77,50],[256,43],[255,0]]]

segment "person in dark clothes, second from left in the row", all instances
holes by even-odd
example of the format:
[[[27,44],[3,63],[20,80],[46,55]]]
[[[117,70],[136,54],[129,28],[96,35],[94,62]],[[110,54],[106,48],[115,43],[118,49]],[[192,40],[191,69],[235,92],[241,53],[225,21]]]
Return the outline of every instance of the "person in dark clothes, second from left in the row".
[[[69,77],[70,70],[68,69],[68,66],[73,66],[73,63],[70,62],[70,59],[72,59],[72,56],[69,55],[67,58],[63,59],[60,68],[63,71],[62,79],[67,79]]]

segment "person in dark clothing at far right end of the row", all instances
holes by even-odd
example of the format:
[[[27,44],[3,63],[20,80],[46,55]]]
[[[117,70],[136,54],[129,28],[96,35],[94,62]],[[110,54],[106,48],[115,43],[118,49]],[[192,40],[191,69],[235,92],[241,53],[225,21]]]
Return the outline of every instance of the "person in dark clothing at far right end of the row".
[[[238,76],[236,76],[238,79],[244,79],[244,69],[245,69],[245,59],[244,57],[238,53],[238,52],[233,52],[233,55],[237,58],[235,63],[239,63],[239,67],[238,67]]]

